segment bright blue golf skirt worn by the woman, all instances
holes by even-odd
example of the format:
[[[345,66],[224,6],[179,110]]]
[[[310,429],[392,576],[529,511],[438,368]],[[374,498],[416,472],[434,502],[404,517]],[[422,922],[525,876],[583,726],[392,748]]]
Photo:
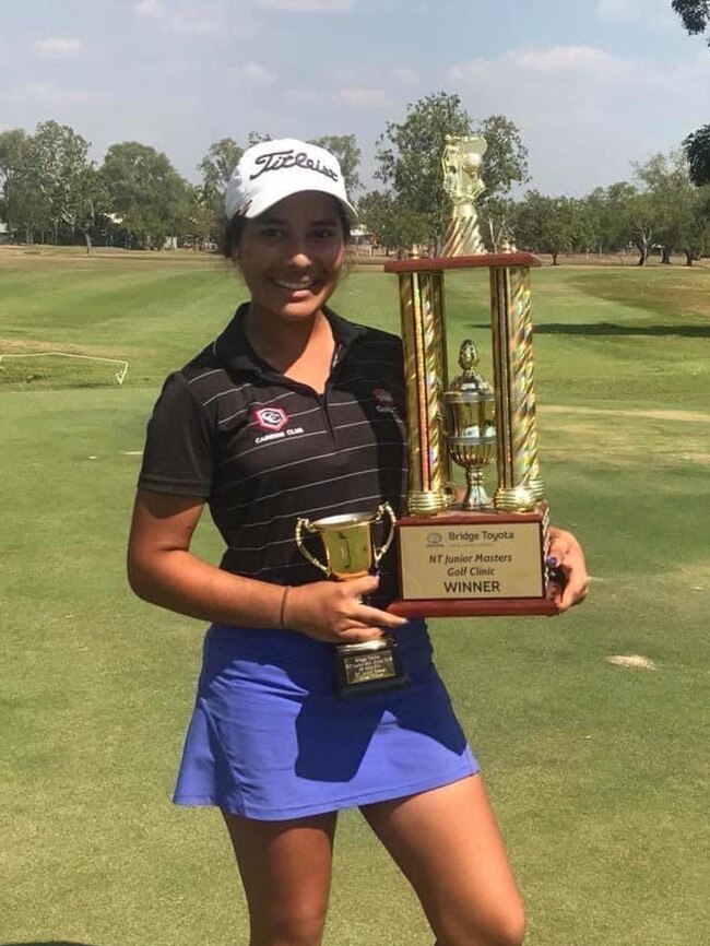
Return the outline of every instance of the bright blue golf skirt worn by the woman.
[[[475,773],[425,624],[392,636],[409,685],[338,699],[331,645],[287,630],[210,627],[176,804],[282,820]]]

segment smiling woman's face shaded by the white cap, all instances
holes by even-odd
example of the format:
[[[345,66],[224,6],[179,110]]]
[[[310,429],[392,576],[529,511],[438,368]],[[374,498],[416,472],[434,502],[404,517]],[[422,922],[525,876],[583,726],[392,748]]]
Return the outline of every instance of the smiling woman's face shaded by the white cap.
[[[312,317],[330,298],[344,253],[335,199],[303,191],[246,221],[234,257],[251,311],[293,322]]]

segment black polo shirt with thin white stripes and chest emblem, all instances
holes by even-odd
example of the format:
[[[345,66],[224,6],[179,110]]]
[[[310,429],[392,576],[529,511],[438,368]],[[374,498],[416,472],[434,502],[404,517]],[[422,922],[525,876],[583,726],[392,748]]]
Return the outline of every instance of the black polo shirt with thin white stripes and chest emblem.
[[[225,331],[170,375],[155,404],[139,486],[209,504],[226,551],[221,568],[280,584],[323,578],[294,539],[316,520],[399,516],[406,487],[402,348],[397,335],[331,310],[335,340],[322,394],[263,362],[242,331],[246,306]],[[376,529],[382,541],[383,527]],[[315,536],[312,554],[323,559]],[[397,596],[397,554],[380,564],[374,603]]]

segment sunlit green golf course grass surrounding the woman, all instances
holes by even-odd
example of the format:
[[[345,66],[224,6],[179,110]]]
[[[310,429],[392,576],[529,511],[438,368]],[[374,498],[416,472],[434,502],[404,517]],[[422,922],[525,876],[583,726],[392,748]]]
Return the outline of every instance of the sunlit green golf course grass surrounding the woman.
[[[542,472],[591,595],[560,618],[433,622],[439,670],[531,946],[705,946],[710,270],[532,280]],[[487,348],[487,286],[446,285],[454,362],[466,336]],[[215,258],[0,248],[0,355],[129,363],[122,387],[68,359],[0,378],[0,944],[246,942],[218,816],[169,803],[203,628],[133,598],[123,567],[162,379],[242,297]],[[354,271],[334,304],[398,329],[394,276]],[[220,554],[208,517],[197,549]],[[610,662],[630,655],[647,669]],[[326,943],[430,946],[356,813],[336,849]]]

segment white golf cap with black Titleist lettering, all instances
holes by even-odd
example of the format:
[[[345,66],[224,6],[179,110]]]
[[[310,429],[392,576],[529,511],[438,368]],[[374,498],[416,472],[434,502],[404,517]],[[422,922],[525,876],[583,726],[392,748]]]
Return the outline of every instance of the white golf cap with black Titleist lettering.
[[[334,155],[317,144],[295,138],[261,141],[247,149],[235,167],[224,194],[227,220],[235,214],[251,220],[292,193],[317,190],[330,193],[350,221],[357,211],[347,199],[343,173]]]

